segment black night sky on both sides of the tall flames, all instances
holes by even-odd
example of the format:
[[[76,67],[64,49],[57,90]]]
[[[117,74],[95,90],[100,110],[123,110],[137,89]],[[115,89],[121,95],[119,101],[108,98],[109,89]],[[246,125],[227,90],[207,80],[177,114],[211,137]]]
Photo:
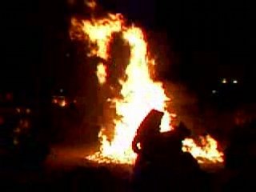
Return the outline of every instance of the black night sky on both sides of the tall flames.
[[[33,86],[34,79],[45,79],[47,75],[52,75],[47,70],[51,67],[50,64],[47,66],[45,62],[49,59],[58,61],[58,58],[46,58],[46,55],[49,57],[48,52],[54,50],[58,35],[49,33],[54,31],[58,34],[58,31],[66,29],[63,23],[66,22],[68,9],[65,7],[65,1],[61,0],[14,2],[6,2],[6,5],[1,7],[0,85],[8,86],[12,82],[14,85]],[[214,81],[214,78],[218,78],[218,69],[222,68],[226,68],[229,75],[232,74],[232,69],[237,68],[246,71],[243,73],[246,79],[254,77],[255,67],[251,53],[254,36],[250,29],[254,17],[253,6],[249,2],[99,2],[107,10],[120,11],[129,18],[138,20],[148,29],[162,30],[168,34],[173,51],[180,56],[180,62],[174,63],[176,66],[170,75],[178,74],[176,76],[179,79],[193,82],[194,86],[202,80],[205,84]]]

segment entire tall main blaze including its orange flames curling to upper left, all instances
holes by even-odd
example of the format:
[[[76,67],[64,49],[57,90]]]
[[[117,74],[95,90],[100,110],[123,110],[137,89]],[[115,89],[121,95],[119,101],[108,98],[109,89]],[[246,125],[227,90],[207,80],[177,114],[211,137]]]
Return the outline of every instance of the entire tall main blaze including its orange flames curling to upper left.
[[[146,38],[143,31],[137,26],[126,26],[121,14],[108,14],[106,18],[91,18],[79,21],[73,18],[70,37],[89,42],[88,57],[98,57],[96,75],[100,86],[108,86],[107,68],[110,64],[109,50],[113,34],[120,34],[122,40],[130,46],[129,64],[126,66],[125,76],[118,79],[122,86],[121,97],[108,98],[116,110],[114,122],[114,137],[109,141],[105,134],[106,126],[98,134],[101,147],[98,152],[86,157],[99,163],[133,164],[136,159],[131,143],[136,130],[150,110],[164,112],[161,132],[172,129],[171,120],[175,114],[167,111],[167,102],[170,102],[163,89],[162,82],[154,82],[155,61],[150,58]],[[193,141],[193,140],[192,140]],[[189,152],[193,151],[190,149]],[[207,158],[208,154],[204,154]],[[196,156],[194,156],[197,158]]]

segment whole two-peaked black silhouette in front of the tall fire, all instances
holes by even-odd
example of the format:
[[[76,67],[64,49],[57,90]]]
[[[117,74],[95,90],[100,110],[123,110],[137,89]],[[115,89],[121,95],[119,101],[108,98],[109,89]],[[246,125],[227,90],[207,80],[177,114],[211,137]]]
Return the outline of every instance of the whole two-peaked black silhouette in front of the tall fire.
[[[132,146],[138,154],[134,188],[138,191],[183,191],[189,186],[190,191],[198,191],[198,162],[191,154],[182,152],[182,140],[190,136],[190,130],[180,123],[174,130],[160,133],[162,116],[162,112],[151,110],[134,137]]]

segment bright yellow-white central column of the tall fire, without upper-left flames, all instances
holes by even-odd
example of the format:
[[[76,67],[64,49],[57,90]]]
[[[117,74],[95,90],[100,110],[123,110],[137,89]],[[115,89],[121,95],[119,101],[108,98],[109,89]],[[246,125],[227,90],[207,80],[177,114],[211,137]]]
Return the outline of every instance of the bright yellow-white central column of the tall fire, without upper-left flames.
[[[114,120],[114,139],[108,142],[102,138],[100,154],[110,162],[133,163],[136,154],[131,142],[146,114],[152,109],[165,111],[162,130],[170,130],[170,114],[165,110],[168,98],[162,84],[150,78],[142,30],[131,27],[123,31],[123,38],[131,46],[130,64],[126,68],[126,81],[122,82],[122,99],[114,100],[117,114],[122,118]]]

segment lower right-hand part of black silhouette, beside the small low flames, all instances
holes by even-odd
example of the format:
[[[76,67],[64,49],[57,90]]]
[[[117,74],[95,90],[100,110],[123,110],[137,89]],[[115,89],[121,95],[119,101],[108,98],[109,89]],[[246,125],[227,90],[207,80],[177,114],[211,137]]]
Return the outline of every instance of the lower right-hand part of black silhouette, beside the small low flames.
[[[158,186],[162,186],[162,191],[202,190],[202,172],[197,160],[182,151],[182,140],[188,137],[190,130],[183,122],[159,136],[154,174],[158,175]]]

